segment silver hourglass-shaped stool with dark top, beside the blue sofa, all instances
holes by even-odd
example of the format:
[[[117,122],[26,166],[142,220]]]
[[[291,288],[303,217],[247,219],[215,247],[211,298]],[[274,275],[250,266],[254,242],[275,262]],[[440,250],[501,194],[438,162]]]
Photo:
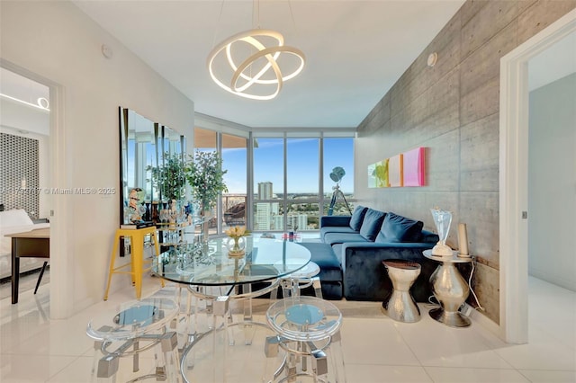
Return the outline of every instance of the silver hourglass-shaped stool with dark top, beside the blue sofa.
[[[383,265],[392,281],[392,295],[383,302],[387,316],[399,322],[413,323],[420,320],[420,309],[410,295],[410,287],[420,274],[419,263],[403,260],[386,260]]]

